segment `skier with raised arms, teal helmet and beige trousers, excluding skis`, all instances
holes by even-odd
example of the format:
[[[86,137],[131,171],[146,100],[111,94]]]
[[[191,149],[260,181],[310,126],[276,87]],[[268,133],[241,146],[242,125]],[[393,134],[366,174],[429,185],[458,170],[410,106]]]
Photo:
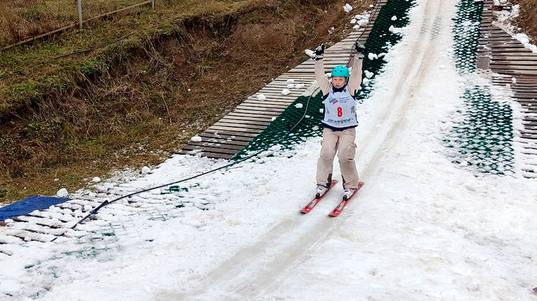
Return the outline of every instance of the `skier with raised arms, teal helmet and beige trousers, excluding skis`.
[[[356,42],[351,54],[352,72],[346,66],[332,69],[331,79],[324,73],[324,45],[315,48],[315,78],[323,92],[324,117],[321,154],[317,162],[317,194],[321,197],[332,183],[332,167],[337,153],[343,178],[344,199],[349,199],[358,189],[356,154],[355,93],[362,82],[362,62],[365,47]]]

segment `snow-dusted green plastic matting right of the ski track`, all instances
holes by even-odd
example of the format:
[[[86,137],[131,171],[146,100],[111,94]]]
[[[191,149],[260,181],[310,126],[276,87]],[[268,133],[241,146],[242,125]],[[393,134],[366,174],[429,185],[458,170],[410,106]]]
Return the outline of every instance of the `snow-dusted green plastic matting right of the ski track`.
[[[477,70],[479,26],[484,3],[461,0],[454,18],[455,63],[459,74]],[[490,87],[469,84],[464,108],[457,111],[459,122],[444,139],[452,149],[452,162],[471,166],[483,173],[504,175],[513,172],[513,112],[508,104],[493,101]]]

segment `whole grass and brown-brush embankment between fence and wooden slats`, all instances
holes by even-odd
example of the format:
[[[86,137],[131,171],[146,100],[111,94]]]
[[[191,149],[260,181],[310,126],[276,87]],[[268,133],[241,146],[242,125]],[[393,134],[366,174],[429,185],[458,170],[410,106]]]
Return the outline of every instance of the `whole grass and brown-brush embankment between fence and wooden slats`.
[[[0,201],[156,164],[350,27],[344,1],[200,2],[1,53]]]

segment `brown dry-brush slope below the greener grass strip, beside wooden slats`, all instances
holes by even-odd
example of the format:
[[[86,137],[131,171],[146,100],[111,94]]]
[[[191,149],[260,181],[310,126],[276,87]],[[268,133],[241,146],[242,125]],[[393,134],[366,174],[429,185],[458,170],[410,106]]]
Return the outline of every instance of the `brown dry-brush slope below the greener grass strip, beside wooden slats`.
[[[1,125],[0,202],[161,162],[305,59],[303,49],[345,36],[344,3],[266,0],[234,15],[192,17],[183,32],[48,96]],[[370,3],[354,3],[353,13]]]

